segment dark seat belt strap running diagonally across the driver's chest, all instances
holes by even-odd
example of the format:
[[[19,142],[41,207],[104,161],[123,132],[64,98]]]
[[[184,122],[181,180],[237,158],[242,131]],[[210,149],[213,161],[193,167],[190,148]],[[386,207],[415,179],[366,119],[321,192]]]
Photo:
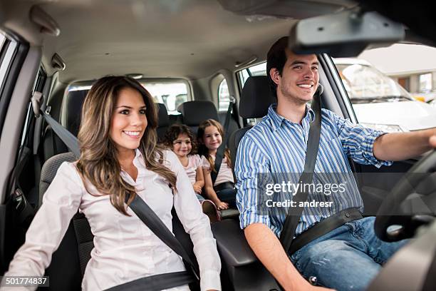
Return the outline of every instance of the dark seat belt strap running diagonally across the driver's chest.
[[[315,113],[315,119],[310,125],[308,139],[307,139],[307,149],[306,149],[306,159],[304,161],[304,170],[301,173],[299,183],[308,184],[311,183],[313,178],[313,171],[315,170],[316,156],[318,155],[319,139],[321,136],[321,94],[323,93],[323,86],[318,84],[315,95],[313,96],[313,101],[311,108]],[[299,188],[296,195],[294,195],[293,201],[296,201],[296,205],[300,202],[307,200],[308,192],[301,192]],[[280,242],[286,253],[289,251],[291,242],[294,239],[297,225],[299,224],[301,214],[303,213],[303,207],[289,208],[286,215],[286,220],[284,222],[283,228],[281,230]]]

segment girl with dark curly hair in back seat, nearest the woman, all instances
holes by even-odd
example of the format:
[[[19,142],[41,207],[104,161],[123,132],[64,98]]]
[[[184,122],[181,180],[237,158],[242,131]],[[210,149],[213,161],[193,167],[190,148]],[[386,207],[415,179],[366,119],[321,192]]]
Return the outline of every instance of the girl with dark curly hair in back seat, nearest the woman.
[[[173,124],[167,129],[163,143],[177,155],[182,163],[199,203],[202,204],[203,213],[207,214],[211,223],[220,220],[217,206],[211,200],[205,200],[201,195],[204,186],[202,160],[199,155],[194,154],[197,144],[194,142],[190,128],[184,124]]]

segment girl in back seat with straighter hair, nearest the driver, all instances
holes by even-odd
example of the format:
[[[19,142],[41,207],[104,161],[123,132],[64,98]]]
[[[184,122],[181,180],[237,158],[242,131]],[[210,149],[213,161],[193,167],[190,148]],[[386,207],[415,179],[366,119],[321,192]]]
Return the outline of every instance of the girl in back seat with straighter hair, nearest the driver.
[[[207,198],[217,205],[218,210],[230,207],[236,208],[236,190],[234,189],[234,177],[232,173],[232,161],[230,150],[224,150],[224,156],[218,171],[217,178],[212,185],[212,171],[214,169],[215,156],[222,144],[224,129],[218,121],[207,119],[198,128],[199,154],[202,155],[202,167],[204,173],[204,191]]]

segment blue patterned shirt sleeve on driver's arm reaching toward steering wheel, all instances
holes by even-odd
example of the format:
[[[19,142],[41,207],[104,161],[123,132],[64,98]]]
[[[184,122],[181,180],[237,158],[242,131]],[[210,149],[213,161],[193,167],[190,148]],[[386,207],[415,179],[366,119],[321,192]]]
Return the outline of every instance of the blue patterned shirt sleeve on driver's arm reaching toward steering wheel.
[[[385,134],[385,132],[351,123],[348,119],[341,118],[331,111],[323,110],[323,113],[326,113],[333,119],[338,129],[338,135],[341,139],[344,152],[356,163],[375,165],[377,168],[380,168],[382,165],[392,165],[393,161],[378,160],[373,153],[375,139]]]

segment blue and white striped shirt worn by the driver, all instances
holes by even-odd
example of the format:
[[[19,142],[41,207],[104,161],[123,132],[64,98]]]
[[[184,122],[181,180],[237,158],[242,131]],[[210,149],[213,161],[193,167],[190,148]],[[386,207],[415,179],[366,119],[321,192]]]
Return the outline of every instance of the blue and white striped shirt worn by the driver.
[[[251,223],[264,223],[279,237],[286,218],[286,211],[273,215],[259,211],[258,182],[259,173],[302,173],[306,156],[308,131],[315,113],[306,106],[306,116],[301,124],[292,123],[276,113],[276,104],[269,107],[268,115],[251,128],[239,143],[235,161],[237,177],[237,206],[240,214],[240,226],[246,228]],[[375,138],[383,134],[355,125],[335,113],[322,109],[321,138],[314,173],[331,173],[352,178],[348,181],[343,195],[326,196],[323,193],[309,191],[308,200],[333,201],[331,208],[305,208],[296,229],[299,235],[324,218],[346,208],[357,207],[363,211],[363,201],[358,186],[352,176],[347,157],[355,162],[380,168],[391,165],[390,161],[378,160],[373,155]],[[263,174],[262,174],[263,175]],[[329,174],[330,175],[330,174]],[[298,179],[299,177],[297,177]],[[339,180],[341,177],[338,178]],[[334,178],[333,178],[334,180]],[[298,181],[297,181],[298,182]],[[323,197],[320,197],[323,196]],[[279,196],[274,195],[274,200]],[[291,199],[292,195],[288,195]]]

